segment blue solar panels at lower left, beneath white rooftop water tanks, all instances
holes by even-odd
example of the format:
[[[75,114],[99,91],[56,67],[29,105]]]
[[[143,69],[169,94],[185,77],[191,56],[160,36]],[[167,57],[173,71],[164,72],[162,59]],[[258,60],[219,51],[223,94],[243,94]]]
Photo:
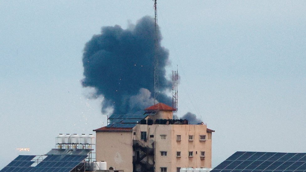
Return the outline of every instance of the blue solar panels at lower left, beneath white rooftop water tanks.
[[[19,155],[0,172],[70,172],[80,164],[87,155],[48,155],[35,167],[34,155]]]

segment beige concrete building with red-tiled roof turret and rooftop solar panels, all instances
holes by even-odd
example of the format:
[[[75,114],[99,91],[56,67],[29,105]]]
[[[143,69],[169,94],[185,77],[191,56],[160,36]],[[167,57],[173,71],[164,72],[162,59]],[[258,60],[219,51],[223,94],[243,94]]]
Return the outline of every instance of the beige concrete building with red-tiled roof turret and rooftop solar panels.
[[[172,119],[171,107],[158,103],[144,115],[112,115],[96,131],[96,159],[125,172],[177,172],[211,168],[213,130]]]

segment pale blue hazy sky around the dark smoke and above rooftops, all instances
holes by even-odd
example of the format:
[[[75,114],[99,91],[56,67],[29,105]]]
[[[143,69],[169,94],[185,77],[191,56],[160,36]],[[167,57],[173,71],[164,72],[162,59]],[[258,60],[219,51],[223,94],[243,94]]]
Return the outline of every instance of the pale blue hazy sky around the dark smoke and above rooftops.
[[[178,116],[213,133],[212,165],[235,151],[306,152],[306,2],[158,1],[178,65]],[[0,1],[0,169],[45,154],[58,133],[106,125],[102,98],[82,88],[84,45],[101,27],[126,29],[153,1]]]

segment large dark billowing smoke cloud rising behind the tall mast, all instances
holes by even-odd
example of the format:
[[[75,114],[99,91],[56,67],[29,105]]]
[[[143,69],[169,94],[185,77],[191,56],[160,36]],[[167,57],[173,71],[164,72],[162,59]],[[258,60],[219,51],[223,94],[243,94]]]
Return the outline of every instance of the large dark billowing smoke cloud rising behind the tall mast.
[[[169,53],[161,47],[159,33],[157,27],[157,100],[171,105],[171,97],[161,93],[171,89],[171,82],[165,78]],[[103,27],[101,34],[86,43],[82,85],[94,87],[97,95],[104,96],[102,111],[113,107],[113,113],[126,114],[154,104],[154,39],[154,19],[145,16],[128,29],[119,25]]]

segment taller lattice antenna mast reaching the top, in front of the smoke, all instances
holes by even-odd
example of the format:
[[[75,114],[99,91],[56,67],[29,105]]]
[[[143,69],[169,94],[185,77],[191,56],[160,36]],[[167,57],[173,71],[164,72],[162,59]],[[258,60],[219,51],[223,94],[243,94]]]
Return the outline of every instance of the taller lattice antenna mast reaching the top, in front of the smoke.
[[[155,10],[155,32],[154,32],[154,105],[156,104],[156,99],[158,98],[158,85],[159,85],[159,79],[158,79],[158,55],[157,55],[157,0],[154,0],[154,10]]]

